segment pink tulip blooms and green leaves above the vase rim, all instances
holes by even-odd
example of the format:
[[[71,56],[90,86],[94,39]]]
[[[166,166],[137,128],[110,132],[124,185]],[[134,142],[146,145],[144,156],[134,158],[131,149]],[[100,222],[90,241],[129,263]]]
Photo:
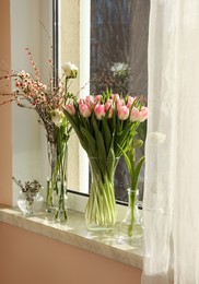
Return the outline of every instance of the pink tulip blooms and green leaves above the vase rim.
[[[148,117],[140,97],[119,97],[109,91],[84,99],[73,97],[63,113],[87,155],[102,158],[121,156],[128,150],[129,133],[136,134]]]

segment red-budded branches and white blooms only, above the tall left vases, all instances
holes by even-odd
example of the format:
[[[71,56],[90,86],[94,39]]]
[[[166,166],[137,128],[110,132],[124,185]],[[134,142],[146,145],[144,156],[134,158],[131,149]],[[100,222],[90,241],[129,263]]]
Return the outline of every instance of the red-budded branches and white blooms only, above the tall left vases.
[[[32,52],[28,48],[26,48],[26,51],[34,74],[32,75],[22,70],[1,76],[0,80],[7,80],[9,83],[13,79],[15,85],[12,94],[1,94],[11,95],[11,98],[2,104],[15,100],[20,107],[34,109],[38,115],[39,121],[43,122],[46,129],[47,140],[50,143],[55,143],[58,139],[55,135],[56,127],[65,126],[66,138],[70,133],[70,126],[62,115],[62,106],[66,104],[67,96],[69,95],[66,82],[68,79],[77,78],[78,68],[70,62],[63,63],[63,76],[58,79],[57,84],[54,85],[54,79],[50,79],[49,83],[45,84],[40,80],[39,69],[34,62]]]

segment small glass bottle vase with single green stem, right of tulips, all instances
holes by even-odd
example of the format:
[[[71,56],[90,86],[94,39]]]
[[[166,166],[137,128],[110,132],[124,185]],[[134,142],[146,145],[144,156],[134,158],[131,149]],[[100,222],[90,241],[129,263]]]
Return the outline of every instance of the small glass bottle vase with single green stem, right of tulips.
[[[118,225],[119,237],[131,240],[134,246],[141,245],[143,225],[142,215],[139,210],[138,190],[127,189],[128,208],[125,218]]]

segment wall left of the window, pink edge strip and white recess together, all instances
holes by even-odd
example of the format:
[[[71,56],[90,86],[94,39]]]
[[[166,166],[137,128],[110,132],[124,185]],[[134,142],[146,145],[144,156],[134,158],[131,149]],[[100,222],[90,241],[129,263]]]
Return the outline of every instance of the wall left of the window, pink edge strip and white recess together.
[[[43,66],[48,66],[50,43],[39,20],[45,26],[51,25],[51,21],[45,3],[50,4],[50,0],[0,0],[0,75],[5,74],[2,70],[10,73],[11,69],[33,73],[26,46],[38,67],[42,66],[40,73],[46,71]],[[46,49],[40,48],[42,44]],[[3,86],[4,82],[0,81],[0,92],[10,93],[10,87]],[[15,103],[0,106],[0,203],[15,205],[20,188],[12,184],[12,176],[23,181],[38,179],[46,185],[49,175],[46,144],[44,127],[38,123],[36,111],[20,108]]]

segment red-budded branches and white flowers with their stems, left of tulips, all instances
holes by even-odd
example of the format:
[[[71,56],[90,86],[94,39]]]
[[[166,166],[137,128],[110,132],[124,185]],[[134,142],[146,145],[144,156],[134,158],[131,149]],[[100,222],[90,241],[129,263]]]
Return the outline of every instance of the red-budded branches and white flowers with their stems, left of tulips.
[[[7,80],[9,84],[13,80],[15,86],[15,90],[11,94],[1,94],[11,96],[1,105],[14,100],[20,107],[34,109],[38,115],[38,121],[45,127],[51,166],[46,203],[47,208],[50,208],[52,192],[57,188],[57,180],[61,181],[61,192],[63,192],[63,181],[66,181],[67,142],[70,137],[71,126],[62,113],[62,107],[68,97],[72,96],[68,91],[68,82],[70,79],[77,78],[78,68],[71,62],[66,62],[62,64],[62,78],[50,79],[49,83],[45,84],[42,82],[39,69],[33,59],[31,50],[26,48],[26,51],[34,74],[22,70],[1,76],[0,80]],[[51,64],[51,60],[49,63]],[[52,68],[52,66],[50,67]],[[60,194],[61,197],[62,193]],[[61,204],[61,202],[59,203]],[[60,208],[63,208],[63,205],[61,204]],[[65,218],[67,218],[66,210]]]

